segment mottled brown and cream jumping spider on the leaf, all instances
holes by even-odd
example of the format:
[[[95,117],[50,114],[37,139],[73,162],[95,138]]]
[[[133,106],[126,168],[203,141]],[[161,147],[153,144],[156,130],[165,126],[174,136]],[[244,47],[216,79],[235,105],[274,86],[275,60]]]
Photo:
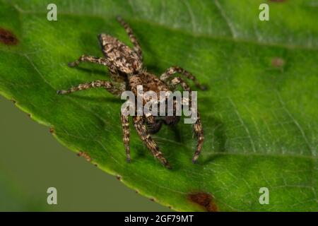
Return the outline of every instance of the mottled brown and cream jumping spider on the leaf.
[[[88,90],[90,88],[105,88],[113,95],[121,95],[125,90],[131,90],[137,95],[137,85],[143,85],[143,91],[152,90],[155,93],[160,91],[174,91],[177,85],[181,85],[183,90],[191,92],[189,85],[180,77],[173,76],[176,73],[180,73],[184,78],[192,80],[195,85],[201,90],[205,90],[205,87],[201,85],[196,78],[188,71],[182,69],[179,66],[172,66],[167,69],[158,78],[143,69],[143,56],[141,52],[141,46],[136,40],[136,37],[131,30],[130,26],[120,17],[117,17],[118,22],[124,27],[129,40],[134,44],[134,48],[131,49],[123,42],[117,40],[117,38],[106,34],[98,35],[102,53],[105,57],[93,57],[82,55],[76,61],[69,63],[70,67],[78,66],[81,62],[90,62],[94,64],[101,64],[107,66],[110,71],[110,76],[113,81],[92,81],[90,83],[83,83],[76,87],[72,87],[69,90],[58,90],[58,94],[73,93],[78,90]],[[173,78],[173,79],[172,79]],[[191,100],[189,100],[191,102]],[[130,162],[130,148],[129,148],[129,117],[121,114],[123,142],[126,150],[126,160]],[[164,116],[153,117],[152,115],[134,116],[132,117],[134,128],[140,136],[146,147],[151,150],[151,153],[156,157],[165,167],[172,169],[169,162],[160,152],[157,143],[151,138],[151,134],[160,130],[162,124],[174,125],[179,121],[179,116]],[[204,143],[204,132],[202,129],[201,119],[199,112],[197,113],[197,120],[193,124],[193,131],[197,139],[196,151],[192,158],[192,162],[196,162],[201,153],[201,148]]]

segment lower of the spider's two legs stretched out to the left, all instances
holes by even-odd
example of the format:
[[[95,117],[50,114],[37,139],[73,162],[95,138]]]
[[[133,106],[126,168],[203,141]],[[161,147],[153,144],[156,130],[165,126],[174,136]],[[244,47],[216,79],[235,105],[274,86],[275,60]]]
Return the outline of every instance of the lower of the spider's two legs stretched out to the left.
[[[114,95],[119,95],[120,93],[124,91],[120,88],[115,87],[114,84],[109,81],[96,80],[90,83],[79,84],[78,86],[72,87],[69,90],[57,90],[57,94],[73,93],[80,90],[88,90],[90,88],[100,88],[100,87],[105,88],[106,90],[108,90],[110,93]]]

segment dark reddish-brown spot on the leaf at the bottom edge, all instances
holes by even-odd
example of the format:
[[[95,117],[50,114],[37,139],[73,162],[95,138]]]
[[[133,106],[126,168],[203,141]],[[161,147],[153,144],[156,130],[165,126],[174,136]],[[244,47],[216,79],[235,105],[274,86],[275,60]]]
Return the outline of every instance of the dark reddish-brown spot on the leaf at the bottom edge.
[[[213,196],[205,192],[197,192],[188,195],[190,201],[204,207],[208,212],[218,212],[216,203],[213,202]]]

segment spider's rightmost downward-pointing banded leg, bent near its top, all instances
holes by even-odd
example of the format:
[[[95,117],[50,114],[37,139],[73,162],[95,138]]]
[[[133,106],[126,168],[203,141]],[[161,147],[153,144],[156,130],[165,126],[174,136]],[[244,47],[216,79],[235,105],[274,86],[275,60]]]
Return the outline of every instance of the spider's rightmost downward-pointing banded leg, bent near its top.
[[[173,87],[176,87],[177,85],[181,85],[182,88],[186,91],[190,92],[189,95],[189,107],[191,107],[192,105],[192,100],[191,100],[191,89],[189,88],[189,85],[187,83],[185,83],[182,78],[176,77],[174,79],[172,79],[171,81],[171,85]],[[192,125],[193,127],[193,131],[194,131],[194,135],[196,136],[196,151],[194,153],[194,156],[192,158],[192,162],[196,162],[196,160],[199,158],[199,155],[201,153],[202,150],[202,145],[204,143],[204,131],[202,128],[202,123],[201,123],[201,117],[200,117],[200,113],[199,111],[197,112],[197,119],[196,122]]]

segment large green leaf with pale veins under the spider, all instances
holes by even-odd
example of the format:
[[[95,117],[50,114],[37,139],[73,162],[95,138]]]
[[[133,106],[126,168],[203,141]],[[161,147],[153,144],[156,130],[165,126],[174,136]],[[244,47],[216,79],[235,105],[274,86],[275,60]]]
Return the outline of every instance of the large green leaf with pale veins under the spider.
[[[269,21],[259,20],[258,0],[56,0],[57,21],[47,20],[50,1],[0,2],[0,93],[100,169],[174,210],[318,210],[315,1],[266,1]],[[67,63],[102,56],[102,32],[131,45],[117,15],[134,29],[148,71],[179,65],[208,86],[198,92],[206,140],[197,165],[189,124],[154,136],[172,170],[133,127],[127,164],[121,100],[105,90],[57,95],[109,79],[105,67]],[[259,203],[261,187],[269,189],[269,205]]]

